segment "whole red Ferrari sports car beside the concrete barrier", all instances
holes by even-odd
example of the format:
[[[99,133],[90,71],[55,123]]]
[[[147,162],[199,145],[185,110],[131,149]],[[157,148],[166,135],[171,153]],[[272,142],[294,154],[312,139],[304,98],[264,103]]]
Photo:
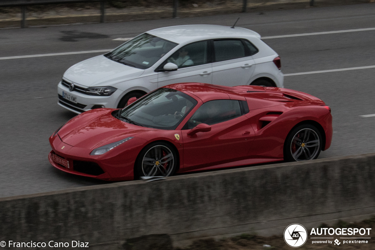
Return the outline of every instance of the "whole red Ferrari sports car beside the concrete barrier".
[[[158,88],[123,109],[77,115],[49,138],[48,158],[72,174],[133,180],[317,159],[331,140],[331,109],[309,94],[184,83]]]

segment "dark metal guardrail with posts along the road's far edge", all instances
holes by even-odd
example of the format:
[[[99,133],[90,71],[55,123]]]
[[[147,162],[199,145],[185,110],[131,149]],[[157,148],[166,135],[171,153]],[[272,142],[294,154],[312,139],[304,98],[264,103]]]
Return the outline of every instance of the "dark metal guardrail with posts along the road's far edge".
[[[62,3],[87,3],[100,2],[100,22],[105,22],[105,3],[110,0],[0,0],[0,7],[20,6],[21,7],[21,28],[26,28],[26,6],[42,4]],[[242,12],[246,12],[248,0],[243,0]],[[177,17],[179,0],[173,0],[172,18]],[[310,0],[310,6],[314,6],[314,0]]]

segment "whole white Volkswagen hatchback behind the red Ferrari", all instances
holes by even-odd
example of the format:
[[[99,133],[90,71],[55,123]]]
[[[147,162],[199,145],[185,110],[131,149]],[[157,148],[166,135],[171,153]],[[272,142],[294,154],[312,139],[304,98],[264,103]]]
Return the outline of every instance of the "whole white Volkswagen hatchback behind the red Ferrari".
[[[260,38],[219,25],[150,30],[66,70],[58,104],[78,114],[122,108],[132,97],[178,82],[283,87],[280,57]]]

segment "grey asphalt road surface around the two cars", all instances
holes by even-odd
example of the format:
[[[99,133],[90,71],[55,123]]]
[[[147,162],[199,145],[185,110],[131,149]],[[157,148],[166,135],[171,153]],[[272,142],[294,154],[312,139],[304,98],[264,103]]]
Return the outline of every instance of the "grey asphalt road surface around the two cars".
[[[360,116],[375,114],[375,68],[347,70],[375,65],[375,29],[358,30],[375,27],[375,4],[0,29],[0,196],[106,183],[58,171],[47,157],[48,137],[75,116],[57,105],[57,83],[68,67],[103,53],[24,55],[112,49],[123,43],[112,39],[153,28],[233,25],[237,17],[237,26],[257,31],[279,53],[286,88],[317,96],[332,108],[333,141],[320,158],[375,151],[375,117]],[[329,32],[339,30],[345,32]],[[311,34],[317,32],[326,33]],[[292,34],[303,35],[275,37]],[[316,72],[321,70],[329,72]]]

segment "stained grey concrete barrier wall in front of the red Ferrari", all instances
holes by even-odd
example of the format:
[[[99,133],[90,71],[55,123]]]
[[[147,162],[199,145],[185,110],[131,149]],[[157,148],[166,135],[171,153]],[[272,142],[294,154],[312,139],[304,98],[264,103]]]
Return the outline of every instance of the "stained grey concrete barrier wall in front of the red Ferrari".
[[[0,240],[89,242],[126,238],[280,234],[375,213],[375,154],[281,163],[0,198]]]

